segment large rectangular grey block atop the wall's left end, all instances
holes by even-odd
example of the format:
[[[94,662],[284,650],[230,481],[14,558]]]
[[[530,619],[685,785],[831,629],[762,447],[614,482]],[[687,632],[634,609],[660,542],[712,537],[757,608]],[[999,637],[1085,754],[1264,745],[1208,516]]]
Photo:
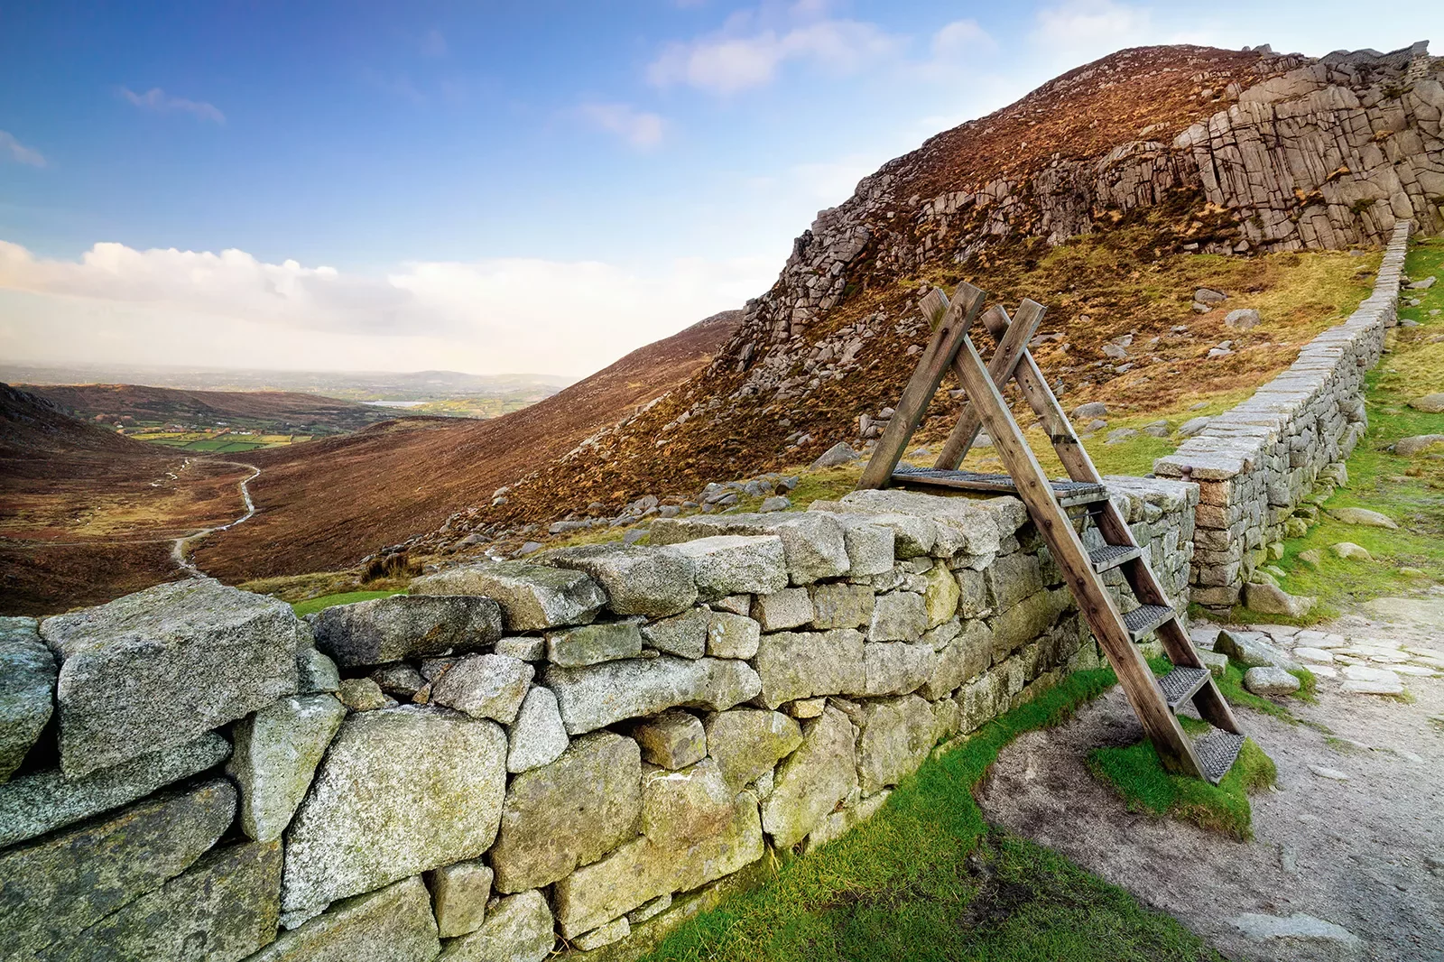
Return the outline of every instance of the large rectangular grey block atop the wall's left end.
[[[185,744],[296,690],[290,605],[211,578],[40,623],[66,777]]]

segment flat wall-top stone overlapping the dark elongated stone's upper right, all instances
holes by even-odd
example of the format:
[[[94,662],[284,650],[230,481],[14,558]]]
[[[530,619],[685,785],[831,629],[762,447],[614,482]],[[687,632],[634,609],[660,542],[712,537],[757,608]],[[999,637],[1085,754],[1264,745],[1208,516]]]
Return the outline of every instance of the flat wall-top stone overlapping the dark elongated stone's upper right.
[[[462,565],[412,581],[413,595],[482,595],[501,605],[511,631],[588,624],[606,594],[586,573],[526,562]]]

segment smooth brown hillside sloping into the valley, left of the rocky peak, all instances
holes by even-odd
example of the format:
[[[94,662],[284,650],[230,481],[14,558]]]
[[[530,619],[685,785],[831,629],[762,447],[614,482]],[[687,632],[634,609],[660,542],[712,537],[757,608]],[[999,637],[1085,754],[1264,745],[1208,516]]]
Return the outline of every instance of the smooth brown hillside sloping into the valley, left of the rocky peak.
[[[632,351],[566,390],[491,420],[409,417],[347,438],[247,455],[260,513],[195,552],[227,581],[355,565],[562,456],[638,404],[684,383],[732,335],[713,315]]]

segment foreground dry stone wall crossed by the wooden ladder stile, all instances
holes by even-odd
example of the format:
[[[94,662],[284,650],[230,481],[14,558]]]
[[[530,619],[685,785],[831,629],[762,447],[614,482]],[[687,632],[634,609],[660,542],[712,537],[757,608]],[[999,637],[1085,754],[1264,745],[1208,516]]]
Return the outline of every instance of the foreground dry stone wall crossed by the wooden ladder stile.
[[[1186,589],[1197,487],[1110,482]],[[635,953],[1097,663],[1014,498],[651,542],[306,620],[193,579],[0,623],[0,959]]]

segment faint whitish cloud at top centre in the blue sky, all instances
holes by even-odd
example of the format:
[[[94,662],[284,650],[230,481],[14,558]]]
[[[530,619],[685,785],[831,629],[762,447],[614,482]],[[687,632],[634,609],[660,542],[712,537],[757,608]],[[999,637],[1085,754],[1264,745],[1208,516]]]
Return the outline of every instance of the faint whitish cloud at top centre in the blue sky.
[[[657,87],[686,84],[735,94],[765,87],[788,61],[851,74],[894,56],[901,46],[900,38],[875,23],[829,17],[825,4],[801,0],[781,17],[767,9],[739,12],[716,33],[669,43],[647,75]]]

